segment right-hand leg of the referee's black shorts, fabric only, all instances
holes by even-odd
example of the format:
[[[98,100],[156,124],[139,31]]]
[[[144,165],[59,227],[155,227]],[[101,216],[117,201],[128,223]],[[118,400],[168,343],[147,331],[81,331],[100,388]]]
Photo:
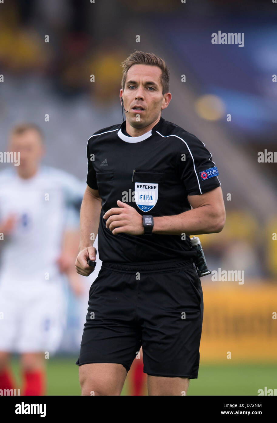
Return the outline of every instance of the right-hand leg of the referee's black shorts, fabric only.
[[[197,378],[203,296],[194,267],[141,274],[139,298],[144,373]]]

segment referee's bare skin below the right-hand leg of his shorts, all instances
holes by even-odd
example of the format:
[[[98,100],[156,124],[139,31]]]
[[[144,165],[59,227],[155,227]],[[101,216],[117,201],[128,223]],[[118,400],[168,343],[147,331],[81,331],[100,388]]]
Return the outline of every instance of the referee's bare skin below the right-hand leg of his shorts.
[[[147,376],[148,395],[186,395],[187,377]]]

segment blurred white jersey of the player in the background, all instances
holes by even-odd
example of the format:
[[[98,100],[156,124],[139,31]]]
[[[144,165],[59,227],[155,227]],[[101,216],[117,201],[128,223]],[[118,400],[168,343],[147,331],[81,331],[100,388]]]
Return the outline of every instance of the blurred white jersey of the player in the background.
[[[16,214],[15,228],[0,241],[0,284],[59,278],[63,231],[79,228],[83,193],[81,181],[48,166],[40,165],[30,179],[20,178],[15,168],[0,172],[0,226]]]

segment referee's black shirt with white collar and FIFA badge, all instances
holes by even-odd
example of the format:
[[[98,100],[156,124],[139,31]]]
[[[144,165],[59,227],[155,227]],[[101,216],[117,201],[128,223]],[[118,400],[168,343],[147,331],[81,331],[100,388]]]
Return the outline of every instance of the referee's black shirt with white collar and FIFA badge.
[[[139,137],[126,135],[126,121],[95,132],[87,145],[87,184],[99,191],[102,211],[98,251],[103,262],[186,260],[195,258],[189,236],[113,235],[103,215],[116,201],[138,213],[170,216],[191,209],[188,195],[220,187],[212,154],[197,137],[160,118]]]

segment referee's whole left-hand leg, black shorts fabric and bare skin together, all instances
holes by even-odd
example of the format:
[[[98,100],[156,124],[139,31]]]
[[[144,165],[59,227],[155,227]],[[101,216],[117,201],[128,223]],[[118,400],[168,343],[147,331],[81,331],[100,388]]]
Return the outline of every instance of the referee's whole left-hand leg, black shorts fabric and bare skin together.
[[[113,266],[116,271],[112,270]],[[76,361],[83,396],[119,396],[127,371],[140,351],[142,342],[135,319],[137,280],[134,275],[127,266],[106,263],[102,264],[91,285]]]

